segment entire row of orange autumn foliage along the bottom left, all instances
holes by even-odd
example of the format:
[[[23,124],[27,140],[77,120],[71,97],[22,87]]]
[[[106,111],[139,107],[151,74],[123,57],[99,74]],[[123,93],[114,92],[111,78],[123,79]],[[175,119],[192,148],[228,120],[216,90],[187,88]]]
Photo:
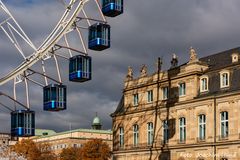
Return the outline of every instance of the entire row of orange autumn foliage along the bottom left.
[[[36,144],[31,139],[23,139],[13,146],[12,151],[27,160],[109,160],[111,149],[106,142],[99,139],[90,140],[81,148],[64,148],[56,156],[47,143]]]

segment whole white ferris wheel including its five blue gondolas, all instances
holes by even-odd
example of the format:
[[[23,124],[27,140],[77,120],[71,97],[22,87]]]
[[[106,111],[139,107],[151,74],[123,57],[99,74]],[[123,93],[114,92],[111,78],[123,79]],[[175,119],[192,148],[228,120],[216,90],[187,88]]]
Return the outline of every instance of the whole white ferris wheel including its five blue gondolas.
[[[1,36],[5,35],[21,57],[21,62],[0,78],[0,87],[11,86],[8,89],[12,94],[0,88],[0,95],[13,101],[13,105],[8,106],[1,101],[0,105],[11,111],[12,136],[35,134],[30,84],[43,88],[43,110],[66,109],[67,86],[61,74],[61,63],[68,63],[69,81],[82,83],[91,80],[92,58],[89,50],[102,51],[110,47],[111,27],[106,17],[123,13],[123,0],[102,0],[101,3],[99,0],[62,0],[61,3],[65,7],[62,17],[37,47],[0,0],[0,16],[3,15],[0,19]],[[26,46],[28,49],[25,49]],[[20,95],[17,88],[21,88]]]

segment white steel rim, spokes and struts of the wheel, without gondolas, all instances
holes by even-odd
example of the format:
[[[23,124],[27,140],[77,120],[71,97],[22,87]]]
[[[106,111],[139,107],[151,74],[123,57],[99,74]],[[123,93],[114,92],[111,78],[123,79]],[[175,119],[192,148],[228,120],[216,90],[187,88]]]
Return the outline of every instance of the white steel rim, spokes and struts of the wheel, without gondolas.
[[[0,7],[4,10],[4,12],[8,15],[8,18],[6,18],[3,22],[0,22],[0,30],[2,30],[8,39],[11,41],[11,43],[16,47],[18,52],[23,57],[23,62],[13,69],[11,72],[9,72],[4,77],[0,78],[0,86],[8,83],[9,81],[13,80],[13,100],[17,101],[17,91],[16,91],[16,85],[18,84],[24,84],[25,90],[26,90],[26,105],[21,104],[20,102],[17,104],[21,104],[21,106],[24,106],[25,108],[30,108],[29,103],[29,83],[34,83],[36,85],[39,85],[41,87],[44,87],[49,84],[50,81],[54,81],[55,83],[61,84],[62,83],[62,77],[59,67],[59,60],[58,57],[69,59],[73,56],[74,53],[84,54],[87,55],[87,47],[84,42],[84,37],[82,33],[82,29],[88,29],[88,27],[91,25],[91,21],[97,21],[101,23],[107,23],[106,18],[104,17],[103,13],[101,12],[100,4],[98,0],[92,0],[96,3],[97,12],[100,13],[101,20],[94,19],[91,17],[88,17],[87,12],[83,9],[84,5],[90,1],[90,0],[71,0],[69,4],[66,4],[64,0],[61,1],[65,6],[65,12],[63,13],[62,17],[58,21],[57,25],[53,29],[53,31],[48,35],[48,37],[43,41],[43,43],[39,47],[35,47],[35,45],[32,43],[32,41],[28,38],[28,36],[25,34],[23,29],[19,26],[17,21],[13,18],[9,10],[6,8],[6,6],[3,4],[3,2],[0,0]],[[83,17],[81,17],[82,15]],[[81,26],[81,22],[87,24],[87,27]],[[80,44],[82,47],[82,51],[75,49],[74,46],[72,47],[71,43],[71,37],[70,34],[72,32],[74,35],[77,35],[80,40]],[[21,40],[25,41],[32,49],[32,54],[25,54],[22,47],[19,45],[16,35],[21,38]],[[61,43],[64,43],[63,45]],[[58,52],[60,49],[65,49],[68,51],[68,54],[61,54]],[[57,78],[54,76],[48,75],[49,72],[48,68],[46,67],[45,61],[54,60],[55,67],[57,72]],[[36,71],[32,67],[37,62],[40,63],[40,69],[41,71]],[[39,75],[43,78],[44,82],[39,81],[39,79],[34,79],[31,77],[32,75]],[[24,82],[24,83],[22,83]],[[0,92],[0,95],[5,95]],[[10,96],[9,96],[10,97]],[[0,104],[1,105],[1,104]],[[15,105],[16,107],[16,105]]]

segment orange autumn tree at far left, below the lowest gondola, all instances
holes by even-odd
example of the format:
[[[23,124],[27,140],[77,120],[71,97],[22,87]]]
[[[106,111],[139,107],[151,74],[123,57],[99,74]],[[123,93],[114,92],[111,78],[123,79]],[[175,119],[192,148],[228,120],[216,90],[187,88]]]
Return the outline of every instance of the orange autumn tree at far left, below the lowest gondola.
[[[55,160],[55,155],[50,151],[47,143],[36,144],[31,139],[22,139],[13,146],[13,151],[23,155],[28,160]]]

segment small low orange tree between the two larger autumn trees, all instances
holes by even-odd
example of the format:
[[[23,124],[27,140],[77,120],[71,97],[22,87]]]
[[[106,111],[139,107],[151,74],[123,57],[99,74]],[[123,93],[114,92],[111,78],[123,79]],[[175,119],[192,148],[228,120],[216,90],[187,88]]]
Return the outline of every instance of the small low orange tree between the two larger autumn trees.
[[[60,153],[60,160],[81,160],[81,148],[64,148]]]

